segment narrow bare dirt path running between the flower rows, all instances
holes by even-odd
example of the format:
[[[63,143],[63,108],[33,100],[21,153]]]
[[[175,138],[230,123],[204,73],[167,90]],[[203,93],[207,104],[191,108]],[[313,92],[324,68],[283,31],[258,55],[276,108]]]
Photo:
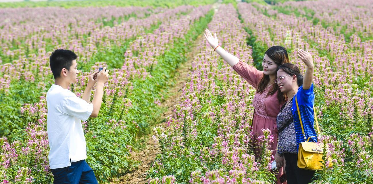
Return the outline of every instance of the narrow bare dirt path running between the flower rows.
[[[188,60],[185,63],[182,63],[178,69],[176,69],[174,77],[176,82],[169,90],[168,98],[162,103],[162,106],[167,108],[167,110],[162,115],[163,118],[172,115],[173,110],[175,109],[174,105],[180,102],[182,88],[184,87],[184,83],[188,81],[188,75],[191,71],[192,60],[195,54],[199,52],[199,50],[196,49],[195,45],[203,43],[202,41],[203,36],[199,35],[196,41],[194,41],[193,43],[192,51],[188,53]],[[165,123],[154,125],[154,127],[155,126],[165,126]],[[144,141],[146,146],[143,149],[139,150],[138,152],[132,152],[132,158],[134,160],[139,160],[140,166],[137,169],[134,169],[134,171],[120,178],[116,178],[115,181],[111,182],[111,184],[147,183],[146,172],[159,153],[159,145],[154,143],[152,136],[153,132],[146,137],[147,140]]]

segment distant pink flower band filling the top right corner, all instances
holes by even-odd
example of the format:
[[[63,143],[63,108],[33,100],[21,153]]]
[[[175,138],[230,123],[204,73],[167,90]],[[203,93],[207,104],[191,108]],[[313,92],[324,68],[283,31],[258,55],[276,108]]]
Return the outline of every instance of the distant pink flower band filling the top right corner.
[[[337,33],[351,36],[357,33],[362,39],[372,39],[373,14],[372,1],[338,0],[338,1],[288,1],[279,9],[297,11],[300,15],[312,18],[314,24],[332,26]]]

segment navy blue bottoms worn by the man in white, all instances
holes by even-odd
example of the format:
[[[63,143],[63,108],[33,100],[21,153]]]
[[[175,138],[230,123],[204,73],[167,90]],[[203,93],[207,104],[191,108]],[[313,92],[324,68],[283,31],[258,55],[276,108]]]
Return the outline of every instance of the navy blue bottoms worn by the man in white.
[[[71,166],[51,169],[54,184],[98,184],[93,170],[85,160],[71,162]]]

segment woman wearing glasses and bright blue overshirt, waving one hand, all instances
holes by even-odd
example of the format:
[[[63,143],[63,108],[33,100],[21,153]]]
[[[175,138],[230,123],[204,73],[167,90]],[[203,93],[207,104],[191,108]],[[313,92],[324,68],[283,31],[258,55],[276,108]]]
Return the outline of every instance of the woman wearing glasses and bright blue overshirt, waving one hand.
[[[286,63],[277,69],[275,80],[281,92],[285,93],[288,99],[276,119],[279,140],[275,155],[277,167],[283,166],[286,161],[285,171],[288,184],[311,182],[314,171],[298,168],[298,148],[299,143],[305,142],[305,139],[309,137],[310,142],[317,142],[313,127],[315,99],[312,84],[313,60],[311,54],[304,50],[297,50],[297,54],[307,66],[304,77],[297,66]],[[301,117],[298,116],[296,103],[298,103]],[[302,118],[305,134],[302,133],[300,118]]]

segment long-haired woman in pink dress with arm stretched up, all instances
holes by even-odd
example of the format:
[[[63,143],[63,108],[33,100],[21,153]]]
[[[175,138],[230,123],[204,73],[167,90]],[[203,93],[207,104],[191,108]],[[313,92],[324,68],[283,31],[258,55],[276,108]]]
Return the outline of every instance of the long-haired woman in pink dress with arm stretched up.
[[[263,135],[263,128],[269,129],[274,137],[270,149],[273,151],[273,155],[275,155],[279,133],[276,125],[276,117],[280,112],[280,107],[285,103],[284,94],[281,93],[280,88],[275,84],[276,69],[284,63],[289,63],[286,49],[280,46],[270,47],[264,53],[262,63],[263,71],[259,71],[220,47],[216,34],[213,36],[208,29],[205,29],[204,36],[214,51],[216,51],[225,62],[231,65],[234,71],[256,88],[253,100],[255,109],[253,116],[254,138]],[[254,146],[257,147],[254,150],[257,158],[261,150],[256,146],[258,145],[257,143],[254,144]],[[279,177],[283,174],[283,170],[285,170],[282,168],[279,168],[279,173],[276,174],[278,184],[281,184]]]

